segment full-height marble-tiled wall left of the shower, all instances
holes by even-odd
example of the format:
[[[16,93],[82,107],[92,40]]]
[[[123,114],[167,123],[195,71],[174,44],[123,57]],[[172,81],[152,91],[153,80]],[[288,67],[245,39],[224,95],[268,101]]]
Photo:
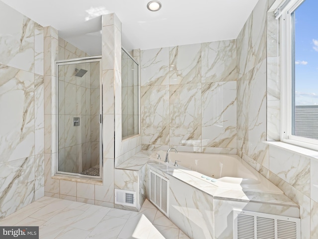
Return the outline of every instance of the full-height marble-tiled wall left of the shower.
[[[0,1],[0,218],[44,196],[44,29]]]

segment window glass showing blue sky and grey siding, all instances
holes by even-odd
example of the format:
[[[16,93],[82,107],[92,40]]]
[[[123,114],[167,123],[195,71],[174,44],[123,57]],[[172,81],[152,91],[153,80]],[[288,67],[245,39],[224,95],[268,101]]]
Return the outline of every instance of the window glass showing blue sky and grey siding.
[[[293,13],[293,135],[318,139],[318,1]]]

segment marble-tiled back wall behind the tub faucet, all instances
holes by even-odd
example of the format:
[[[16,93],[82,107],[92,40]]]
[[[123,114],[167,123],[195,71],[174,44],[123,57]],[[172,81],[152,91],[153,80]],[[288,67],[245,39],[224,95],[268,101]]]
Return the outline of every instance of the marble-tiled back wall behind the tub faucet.
[[[236,59],[236,40],[142,51],[142,149],[236,154]]]

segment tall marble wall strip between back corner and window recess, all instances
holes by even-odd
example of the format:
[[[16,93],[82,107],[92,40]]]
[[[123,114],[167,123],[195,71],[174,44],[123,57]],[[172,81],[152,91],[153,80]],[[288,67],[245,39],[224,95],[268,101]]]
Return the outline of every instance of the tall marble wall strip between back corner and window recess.
[[[237,38],[238,154],[268,169],[266,141],[266,18],[268,2],[259,0]],[[264,172],[266,173],[266,172]]]

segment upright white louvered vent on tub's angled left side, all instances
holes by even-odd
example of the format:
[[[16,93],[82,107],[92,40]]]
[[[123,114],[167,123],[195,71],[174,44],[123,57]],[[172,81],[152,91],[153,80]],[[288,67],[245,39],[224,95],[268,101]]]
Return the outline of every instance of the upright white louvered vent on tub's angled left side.
[[[150,201],[169,217],[169,180],[150,170]]]

